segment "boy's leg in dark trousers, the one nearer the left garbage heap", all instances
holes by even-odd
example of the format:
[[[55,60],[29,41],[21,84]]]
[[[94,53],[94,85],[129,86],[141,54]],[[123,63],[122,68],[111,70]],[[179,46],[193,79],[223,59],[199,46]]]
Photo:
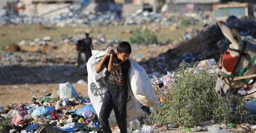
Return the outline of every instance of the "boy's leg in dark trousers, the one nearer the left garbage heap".
[[[109,125],[109,116],[112,108],[113,108],[113,104],[112,104],[111,93],[110,91],[106,91],[103,98],[102,108],[100,108],[100,112],[99,112],[99,120],[100,120],[100,123],[102,124],[103,132],[112,132]]]

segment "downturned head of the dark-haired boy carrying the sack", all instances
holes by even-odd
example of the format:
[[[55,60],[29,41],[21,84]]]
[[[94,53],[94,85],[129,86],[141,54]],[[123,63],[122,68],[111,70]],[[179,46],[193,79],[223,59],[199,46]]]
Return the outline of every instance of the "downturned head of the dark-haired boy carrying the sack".
[[[129,42],[121,42],[117,46],[117,57],[122,60],[126,61],[128,60],[130,54],[132,53],[132,48]]]

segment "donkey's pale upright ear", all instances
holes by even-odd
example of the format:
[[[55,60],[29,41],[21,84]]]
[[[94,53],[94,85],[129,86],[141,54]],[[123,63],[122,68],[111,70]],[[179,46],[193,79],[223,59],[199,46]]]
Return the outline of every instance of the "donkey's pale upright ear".
[[[233,48],[239,49],[241,37],[240,37],[238,30],[235,29],[233,26],[228,28],[226,25],[224,25],[223,21],[218,21],[218,24],[219,24],[220,29],[223,32],[223,34],[232,43]]]

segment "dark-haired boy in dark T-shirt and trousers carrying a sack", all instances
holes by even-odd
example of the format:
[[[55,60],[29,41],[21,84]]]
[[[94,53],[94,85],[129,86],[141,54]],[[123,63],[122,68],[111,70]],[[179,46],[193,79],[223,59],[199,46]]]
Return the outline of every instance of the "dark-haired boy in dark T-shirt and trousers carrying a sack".
[[[104,55],[103,59],[96,67],[96,72],[101,72],[105,67],[109,75],[107,77],[107,91],[105,93],[102,108],[100,109],[99,119],[102,124],[103,132],[112,132],[109,125],[109,116],[112,108],[116,114],[117,124],[120,132],[127,132],[126,127],[126,104],[127,104],[127,78],[130,68],[128,60],[131,54],[129,42],[121,42],[117,46],[117,54],[111,49],[110,55]]]

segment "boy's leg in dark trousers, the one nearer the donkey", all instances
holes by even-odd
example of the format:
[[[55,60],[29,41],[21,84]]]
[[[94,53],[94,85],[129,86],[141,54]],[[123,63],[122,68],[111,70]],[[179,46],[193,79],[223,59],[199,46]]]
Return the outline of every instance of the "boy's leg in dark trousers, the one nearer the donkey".
[[[127,132],[126,121],[126,105],[127,105],[127,92],[113,92],[113,107],[114,114],[116,114],[117,124],[120,129],[120,133]]]

